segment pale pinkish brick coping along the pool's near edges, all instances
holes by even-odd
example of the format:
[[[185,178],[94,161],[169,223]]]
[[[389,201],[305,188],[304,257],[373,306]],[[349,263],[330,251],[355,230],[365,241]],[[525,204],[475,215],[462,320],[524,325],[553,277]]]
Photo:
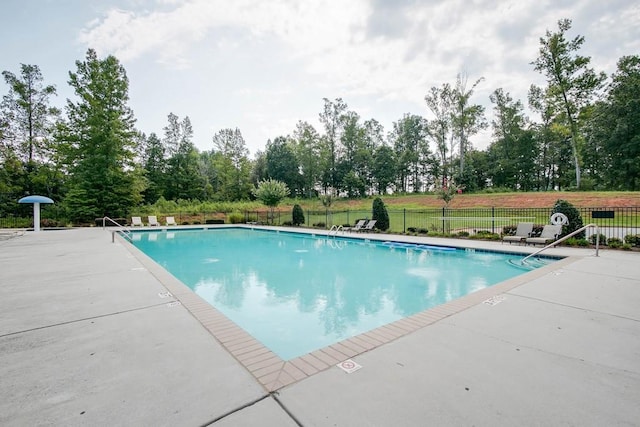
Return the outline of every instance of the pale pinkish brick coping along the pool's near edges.
[[[319,233],[315,232],[313,234]],[[327,370],[347,359],[400,339],[418,329],[482,304],[489,298],[504,294],[513,288],[552,271],[559,270],[580,259],[579,257],[559,259],[553,264],[540,267],[496,285],[483,288],[466,296],[285,361],[215,307],[193,293],[189,287],[164,270],[149,256],[126,242],[124,238],[120,236],[118,238],[143,266],[171,292],[174,300],[179,301],[268,392],[277,391],[318,372]]]

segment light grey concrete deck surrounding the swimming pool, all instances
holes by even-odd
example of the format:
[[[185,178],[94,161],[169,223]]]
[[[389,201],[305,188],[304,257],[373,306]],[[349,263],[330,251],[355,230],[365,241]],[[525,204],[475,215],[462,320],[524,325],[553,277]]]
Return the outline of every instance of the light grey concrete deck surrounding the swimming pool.
[[[499,303],[272,391],[127,245],[99,228],[0,241],[0,425],[638,425],[638,253],[550,250],[571,259]]]

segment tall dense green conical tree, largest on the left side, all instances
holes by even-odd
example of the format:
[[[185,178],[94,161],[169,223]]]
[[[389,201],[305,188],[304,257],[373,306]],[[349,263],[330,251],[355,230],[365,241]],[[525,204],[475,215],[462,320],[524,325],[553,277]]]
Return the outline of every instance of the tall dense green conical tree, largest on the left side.
[[[99,59],[93,49],[76,67],[69,84],[79,100],[67,101],[68,122],[57,136],[70,173],[65,205],[72,220],[123,217],[140,202],[142,190],[134,173],[129,80],[116,57]]]

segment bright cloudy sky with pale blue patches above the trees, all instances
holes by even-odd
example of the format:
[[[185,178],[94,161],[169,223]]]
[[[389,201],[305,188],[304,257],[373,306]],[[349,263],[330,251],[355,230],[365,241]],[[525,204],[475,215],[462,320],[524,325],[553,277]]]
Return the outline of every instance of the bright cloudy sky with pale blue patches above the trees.
[[[138,129],[162,135],[172,112],[189,116],[199,149],[237,127],[253,155],[299,120],[322,132],[323,98],[385,131],[405,113],[429,117],[424,95],[460,72],[484,77],[472,101],[490,120],[496,88],[526,104],[544,82],[530,62],[562,18],[597,71],[640,54],[636,0],[2,0],[0,68],[38,65],[63,106],[87,48],[113,54]]]

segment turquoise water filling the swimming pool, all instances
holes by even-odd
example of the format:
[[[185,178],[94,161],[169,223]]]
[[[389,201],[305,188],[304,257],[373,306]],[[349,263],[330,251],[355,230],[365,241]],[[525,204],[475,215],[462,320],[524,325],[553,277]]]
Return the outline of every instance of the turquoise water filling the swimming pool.
[[[243,228],[133,243],[284,360],[526,271],[521,255]]]

